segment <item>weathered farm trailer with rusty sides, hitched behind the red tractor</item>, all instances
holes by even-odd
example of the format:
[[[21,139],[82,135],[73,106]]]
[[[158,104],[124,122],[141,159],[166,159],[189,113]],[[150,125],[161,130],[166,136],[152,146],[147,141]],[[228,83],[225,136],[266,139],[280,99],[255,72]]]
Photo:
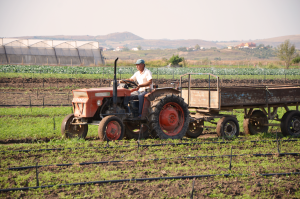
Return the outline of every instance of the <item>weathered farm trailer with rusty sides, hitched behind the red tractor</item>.
[[[191,87],[193,75],[208,75],[208,87]],[[214,86],[211,78],[215,78]],[[185,83],[187,86],[184,87]],[[269,126],[280,126],[284,136],[300,135],[300,85],[220,87],[216,75],[187,73],[180,76],[178,89],[190,110],[187,137],[200,136],[203,128],[216,128],[218,136],[238,136],[236,116],[220,114],[220,111],[234,109],[244,109],[244,134],[254,135],[267,132]],[[282,118],[277,114],[279,107],[286,111]],[[295,107],[295,110],[290,110],[291,107]],[[217,118],[220,120],[215,122]],[[270,120],[280,123],[269,123]],[[216,124],[216,127],[204,126],[204,121]]]

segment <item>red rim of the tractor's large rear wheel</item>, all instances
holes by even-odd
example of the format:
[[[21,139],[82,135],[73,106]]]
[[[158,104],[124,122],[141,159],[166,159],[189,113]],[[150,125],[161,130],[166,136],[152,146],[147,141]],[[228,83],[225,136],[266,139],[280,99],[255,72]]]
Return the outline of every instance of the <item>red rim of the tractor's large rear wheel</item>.
[[[167,135],[177,135],[184,124],[184,112],[182,108],[174,102],[164,105],[159,113],[159,125]]]

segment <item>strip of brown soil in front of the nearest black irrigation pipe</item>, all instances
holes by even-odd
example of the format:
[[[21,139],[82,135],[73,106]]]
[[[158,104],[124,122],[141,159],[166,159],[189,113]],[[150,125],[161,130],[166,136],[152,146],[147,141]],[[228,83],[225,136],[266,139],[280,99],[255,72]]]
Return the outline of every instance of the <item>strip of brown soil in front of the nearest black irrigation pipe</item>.
[[[194,184],[194,198],[220,198],[220,197],[242,197],[245,198],[297,198],[295,192],[299,191],[298,176],[290,178],[275,177],[248,177],[248,178],[201,178],[196,179]],[[280,182],[280,183],[278,183]],[[79,186],[76,190],[70,190],[68,187],[43,189],[41,193],[35,193],[35,190],[19,192],[13,195],[13,192],[3,193],[5,198],[31,198],[35,195],[43,195],[45,198],[190,198],[192,192],[193,180],[174,180],[162,181],[161,183],[152,182],[128,182],[112,184],[95,184]],[[270,184],[274,184],[270,186]],[[279,192],[278,190],[282,190]],[[214,194],[223,194],[214,196]]]

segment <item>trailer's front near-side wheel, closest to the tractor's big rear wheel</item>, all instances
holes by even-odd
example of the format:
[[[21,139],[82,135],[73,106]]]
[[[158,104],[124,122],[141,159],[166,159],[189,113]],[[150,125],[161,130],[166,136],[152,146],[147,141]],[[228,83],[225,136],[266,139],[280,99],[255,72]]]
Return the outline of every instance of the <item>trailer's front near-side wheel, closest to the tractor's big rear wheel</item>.
[[[239,136],[239,123],[234,117],[222,117],[217,123],[217,134],[219,137],[232,138]]]

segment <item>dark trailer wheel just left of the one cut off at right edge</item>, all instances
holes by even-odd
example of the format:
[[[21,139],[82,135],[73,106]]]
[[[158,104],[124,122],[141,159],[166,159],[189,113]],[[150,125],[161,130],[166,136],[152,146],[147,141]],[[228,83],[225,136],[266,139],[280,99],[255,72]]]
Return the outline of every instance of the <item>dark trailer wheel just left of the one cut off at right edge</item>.
[[[268,132],[268,117],[261,110],[255,110],[251,113],[250,118],[244,119],[243,127],[245,135],[255,135],[257,133]]]

